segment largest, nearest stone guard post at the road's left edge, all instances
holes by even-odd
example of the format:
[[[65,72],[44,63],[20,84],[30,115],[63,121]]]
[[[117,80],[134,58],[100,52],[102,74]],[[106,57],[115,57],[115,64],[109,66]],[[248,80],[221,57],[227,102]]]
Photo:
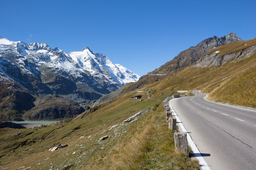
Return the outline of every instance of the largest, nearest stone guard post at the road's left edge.
[[[174,133],[174,141],[175,141],[176,152],[181,152],[188,156],[187,133],[185,132]]]

